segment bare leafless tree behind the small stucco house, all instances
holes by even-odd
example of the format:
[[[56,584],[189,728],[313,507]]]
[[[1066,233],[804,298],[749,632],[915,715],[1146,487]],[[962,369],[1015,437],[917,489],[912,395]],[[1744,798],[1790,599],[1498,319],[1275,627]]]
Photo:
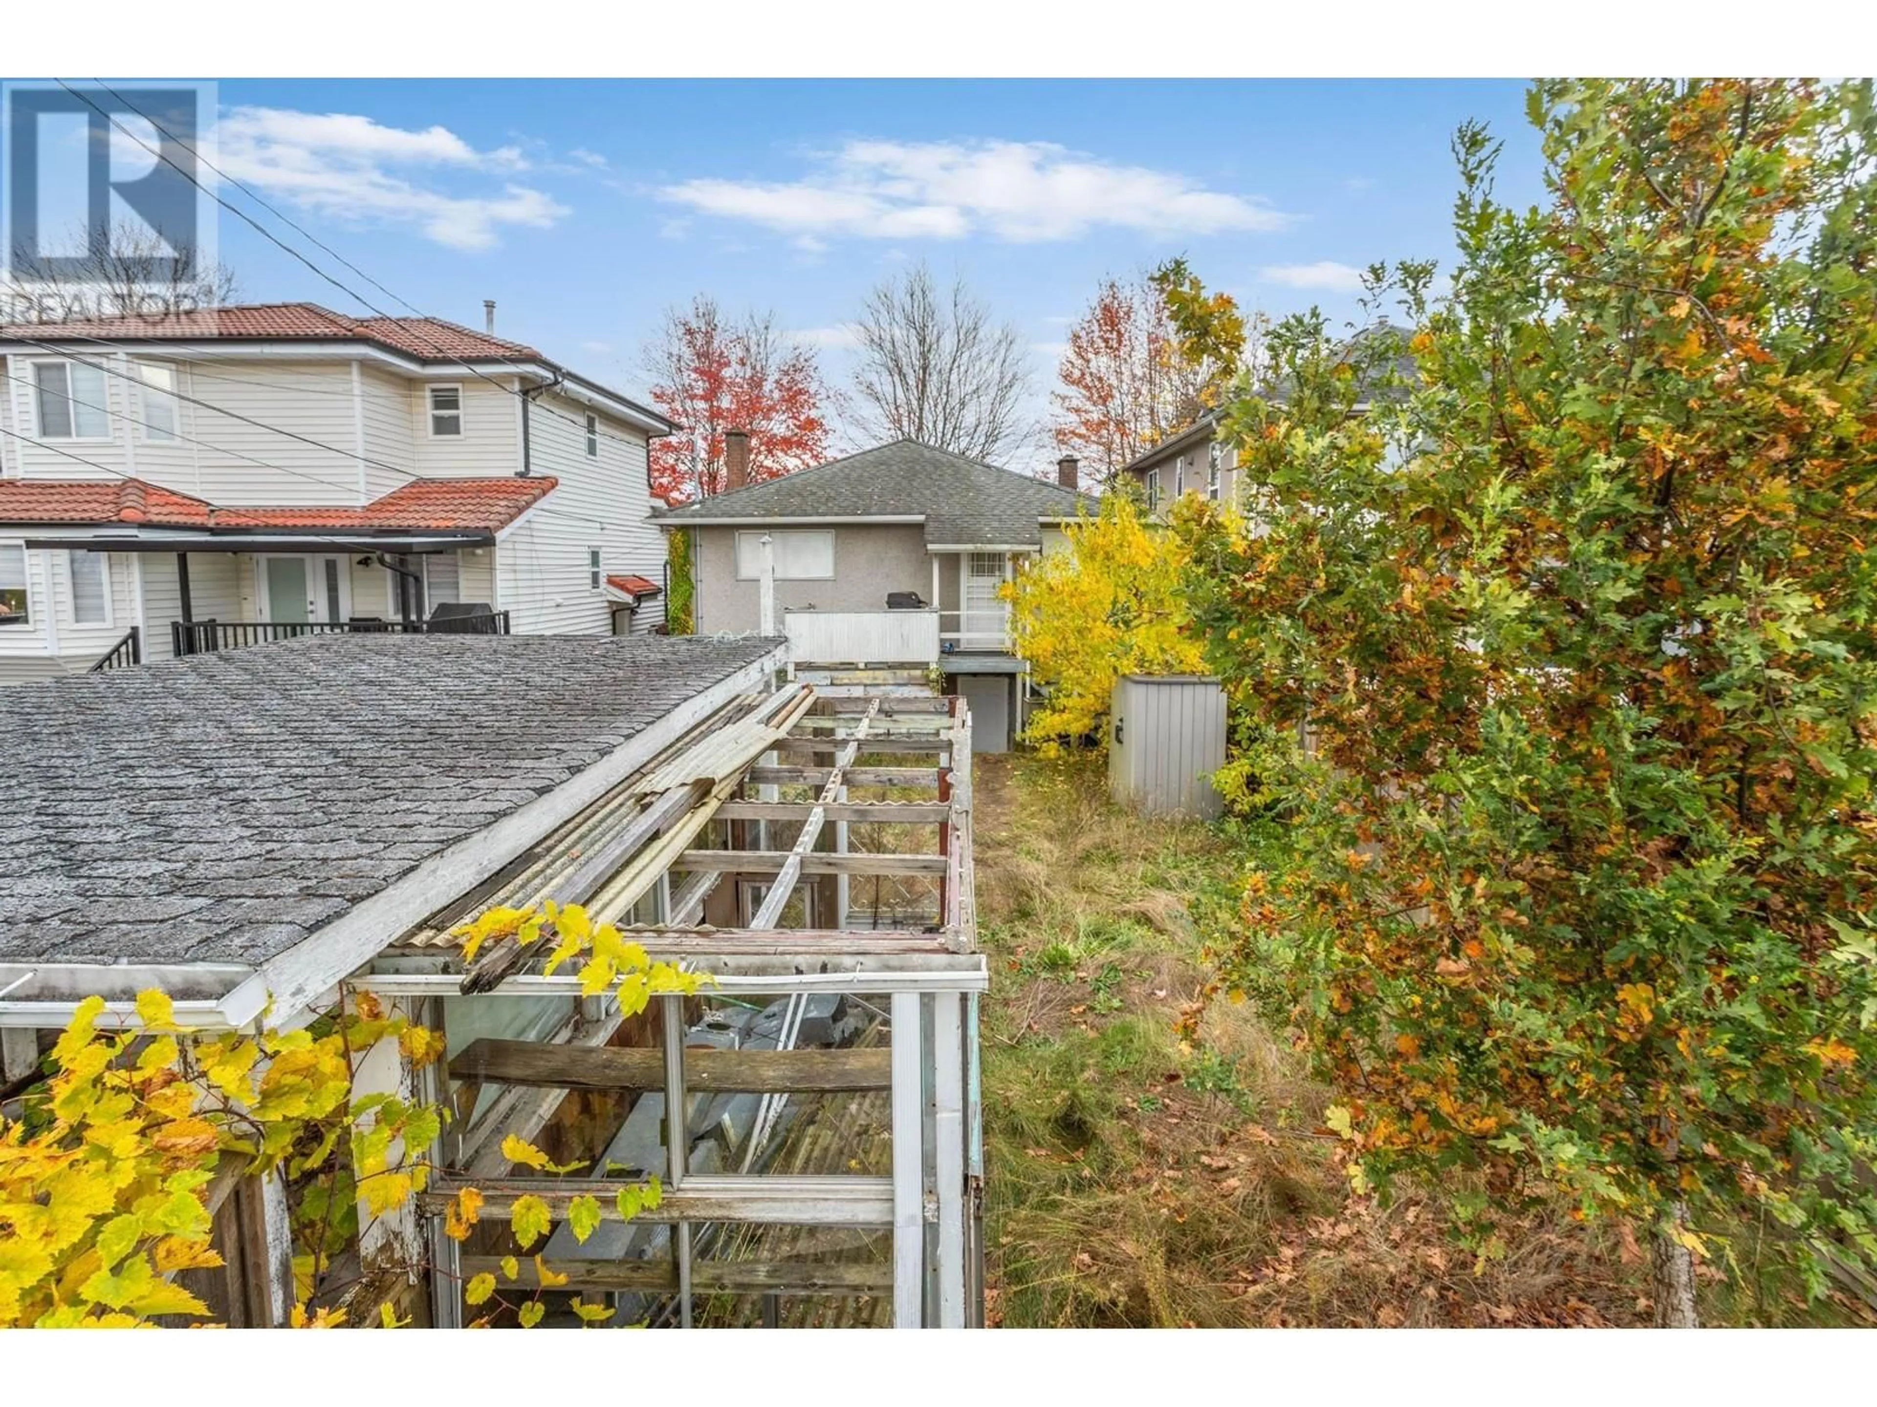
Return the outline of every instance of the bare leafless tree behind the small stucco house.
[[[963,280],[940,289],[916,265],[867,295],[854,332],[852,415],[863,433],[985,463],[1032,443],[1023,334],[999,323]]]

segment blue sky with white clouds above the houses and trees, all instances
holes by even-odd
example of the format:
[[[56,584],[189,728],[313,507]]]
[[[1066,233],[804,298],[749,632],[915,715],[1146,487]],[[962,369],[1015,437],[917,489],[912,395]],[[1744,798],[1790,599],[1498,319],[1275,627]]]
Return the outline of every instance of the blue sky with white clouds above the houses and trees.
[[[1505,139],[1505,197],[1539,197],[1522,92],[223,81],[221,163],[417,308],[481,325],[496,298],[503,334],[633,392],[661,311],[700,291],[773,310],[839,381],[845,319],[882,276],[925,259],[1017,325],[1044,411],[1055,347],[1104,274],[1184,251],[1250,308],[1316,302],[1350,317],[1350,270],[1447,263],[1458,122],[1483,118]],[[221,257],[252,300],[360,311],[227,216]]]

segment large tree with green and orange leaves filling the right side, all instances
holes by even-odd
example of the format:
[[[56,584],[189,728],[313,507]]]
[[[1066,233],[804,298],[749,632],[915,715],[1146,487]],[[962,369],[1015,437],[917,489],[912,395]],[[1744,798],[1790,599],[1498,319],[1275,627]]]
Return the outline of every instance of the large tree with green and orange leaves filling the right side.
[[[1539,83],[1543,206],[1457,137],[1398,401],[1320,325],[1201,525],[1252,719],[1226,981],[1293,1019],[1361,1180],[1483,1176],[1811,1296],[1877,1261],[1871,84]],[[1376,289],[1381,293],[1381,289]],[[1308,747],[1299,747],[1303,737]]]

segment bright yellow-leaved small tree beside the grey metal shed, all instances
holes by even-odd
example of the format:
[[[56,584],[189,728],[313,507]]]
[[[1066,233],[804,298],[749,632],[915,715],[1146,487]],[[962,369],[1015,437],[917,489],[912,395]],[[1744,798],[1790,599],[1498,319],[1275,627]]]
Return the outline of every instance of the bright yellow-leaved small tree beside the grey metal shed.
[[[1045,754],[1102,737],[1115,681],[1124,673],[1196,673],[1199,647],[1181,591],[1186,535],[1154,523],[1126,493],[1102,499],[1096,518],[1068,527],[1068,544],[1044,553],[1004,587],[1012,643],[1045,692],[1025,737]]]

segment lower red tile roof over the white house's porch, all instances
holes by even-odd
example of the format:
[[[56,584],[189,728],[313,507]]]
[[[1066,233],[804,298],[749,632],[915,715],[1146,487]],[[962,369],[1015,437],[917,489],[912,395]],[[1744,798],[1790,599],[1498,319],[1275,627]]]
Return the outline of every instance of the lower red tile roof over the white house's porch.
[[[141,478],[0,480],[0,523],[148,523],[152,527],[280,527],[494,533],[554,492],[556,478],[419,478],[362,508],[218,508]]]

